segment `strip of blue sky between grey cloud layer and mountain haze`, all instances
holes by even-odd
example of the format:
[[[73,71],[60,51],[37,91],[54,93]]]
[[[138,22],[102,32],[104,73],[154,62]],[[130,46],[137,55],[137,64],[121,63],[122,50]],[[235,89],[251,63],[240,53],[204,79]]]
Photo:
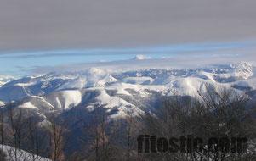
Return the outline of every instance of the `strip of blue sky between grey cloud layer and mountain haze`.
[[[174,58],[178,56],[210,57],[213,53],[246,54],[256,42],[205,42],[151,47],[88,48],[48,51],[16,51],[0,53],[0,75],[29,75],[32,69],[67,64],[89,64],[128,60],[142,54],[147,58]],[[241,51],[237,53],[237,51]]]

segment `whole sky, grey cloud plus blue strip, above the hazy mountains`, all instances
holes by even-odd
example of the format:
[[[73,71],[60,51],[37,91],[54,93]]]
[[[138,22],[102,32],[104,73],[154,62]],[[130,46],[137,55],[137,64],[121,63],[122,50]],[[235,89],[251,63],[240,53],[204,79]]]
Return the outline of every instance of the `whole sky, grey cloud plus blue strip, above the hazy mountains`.
[[[255,0],[0,0],[0,75],[136,54],[196,54],[198,47],[231,45],[237,53],[256,40],[255,6]],[[240,54],[252,52],[242,48]]]

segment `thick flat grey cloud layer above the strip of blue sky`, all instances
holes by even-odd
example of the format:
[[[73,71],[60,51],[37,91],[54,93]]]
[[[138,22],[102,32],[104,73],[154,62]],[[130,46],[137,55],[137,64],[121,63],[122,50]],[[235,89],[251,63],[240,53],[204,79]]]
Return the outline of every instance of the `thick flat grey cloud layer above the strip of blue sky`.
[[[0,0],[0,50],[256,37],[255,0]]]

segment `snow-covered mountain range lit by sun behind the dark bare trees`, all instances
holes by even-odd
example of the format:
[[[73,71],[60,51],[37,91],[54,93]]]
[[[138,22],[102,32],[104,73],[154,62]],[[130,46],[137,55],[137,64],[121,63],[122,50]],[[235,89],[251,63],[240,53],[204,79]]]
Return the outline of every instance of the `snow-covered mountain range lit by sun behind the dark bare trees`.
[[[196,69],[141,69],[107,71],[86,69],[76,72],[48,73],[12,80],[0,87],[0,103],[19,101],[18,108],[31,108],[39,114],[83,107],[97,103],[115,110],[111,117],[133,111],[143,113],[153,106],[157,94],[198,97],[205,85],[227,87],[240,92],[256,89],[252,64],[218,64]],[[44,117],[44,116],[42,116]]]

